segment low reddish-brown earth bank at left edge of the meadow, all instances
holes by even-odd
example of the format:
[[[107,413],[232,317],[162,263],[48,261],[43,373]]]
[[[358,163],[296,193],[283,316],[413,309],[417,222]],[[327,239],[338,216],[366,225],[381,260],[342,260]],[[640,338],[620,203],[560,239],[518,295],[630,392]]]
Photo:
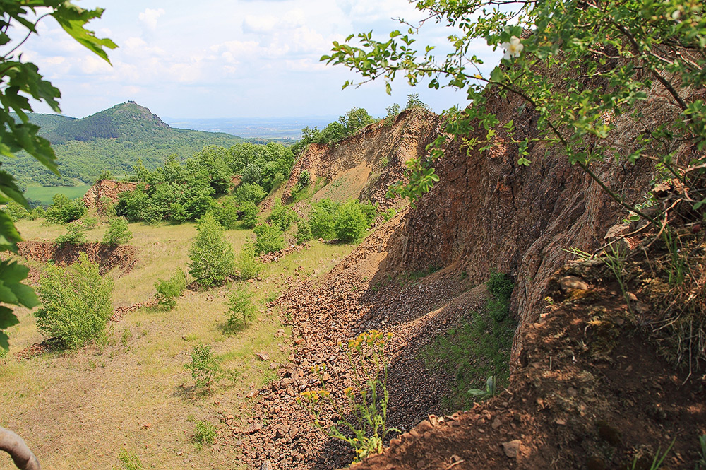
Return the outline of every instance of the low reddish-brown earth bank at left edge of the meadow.
[[[120,268],[121,275],[127,274],[138,262],[138,250],[130,245],[103,245],[102,243],[67,244],[59,248],[54,242],[24,241],[18,243],[18,254],[37,262],[54,262],[68,266],[78,261],[78,255],[85,253],[88,259],[98,264],[100,273]]]

